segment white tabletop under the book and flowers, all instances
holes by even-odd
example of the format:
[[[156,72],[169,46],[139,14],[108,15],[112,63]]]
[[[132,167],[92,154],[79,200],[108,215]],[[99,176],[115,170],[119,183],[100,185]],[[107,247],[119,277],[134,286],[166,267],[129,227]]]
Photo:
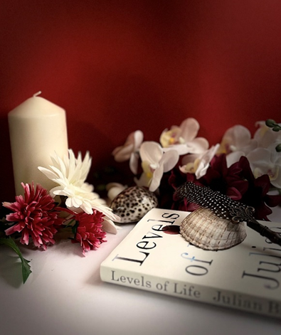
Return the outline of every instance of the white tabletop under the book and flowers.
[[[270,220],[281,222],[281,210]],[[102,282],[100,263],[132,228],[107,234],[86,257],[65,240],[46,251],[21,248],[32,267],[24,285],[18,257],[1,246],[0,334],[281,334],[276,319]]]

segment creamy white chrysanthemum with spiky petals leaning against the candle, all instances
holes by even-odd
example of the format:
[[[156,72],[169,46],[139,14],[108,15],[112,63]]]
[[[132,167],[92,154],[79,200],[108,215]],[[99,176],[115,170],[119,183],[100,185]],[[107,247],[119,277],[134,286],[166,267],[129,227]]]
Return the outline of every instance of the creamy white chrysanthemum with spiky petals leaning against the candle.
[[[112,213],[112,209],[106,206],[105,201],[93,192],[94,187],[85,182],[92,162],[89,152],[85,154],[84,160],[80,152],[77,159],[71,149],[68,150],[68,153],[69,155],[64,156],[63,159],[57,154],[52,156],[53,165],[49,166],[50,169],[38,166],[38,169],[48,179],[58,184],[50,190],[51,196],[53,198],[66,196],[65,205],[75,213],[84,211],[92,214],[92,210],[95,209],[112,221],[120,221],[119,216]]]

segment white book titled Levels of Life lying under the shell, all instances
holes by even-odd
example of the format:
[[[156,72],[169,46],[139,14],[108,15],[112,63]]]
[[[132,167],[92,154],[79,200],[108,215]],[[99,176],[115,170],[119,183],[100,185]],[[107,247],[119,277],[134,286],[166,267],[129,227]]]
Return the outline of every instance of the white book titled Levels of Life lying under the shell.
[[[243,243],[202,250],[179,234],[187,215],[149,211],[102,262],[102,281],[281,319],[281,247],[246,227]]]

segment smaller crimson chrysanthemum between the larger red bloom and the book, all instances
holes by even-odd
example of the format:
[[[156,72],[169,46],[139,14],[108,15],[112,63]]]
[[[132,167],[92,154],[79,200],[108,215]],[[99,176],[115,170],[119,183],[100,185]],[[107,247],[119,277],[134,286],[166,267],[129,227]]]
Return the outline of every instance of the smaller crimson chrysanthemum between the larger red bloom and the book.
[[[89,250],[96,250],[105,240],[106,233],[102,230],[103,214],[94,210],[92,214],[75,214],[78,227],[73,243],[80,243],[83,248],[83,255]]]

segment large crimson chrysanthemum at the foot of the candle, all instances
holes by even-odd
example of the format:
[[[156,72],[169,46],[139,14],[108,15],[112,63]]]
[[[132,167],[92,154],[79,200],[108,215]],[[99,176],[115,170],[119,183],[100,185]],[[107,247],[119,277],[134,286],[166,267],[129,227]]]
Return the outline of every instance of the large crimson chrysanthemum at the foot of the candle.
[[[61,225],[63,219],[58,218],[55,201],[45,188],[40,185],[34,188],[33,184],[21,185],[24,196],[16,196],[14,203],[3,203],[13,212],[6,216],[6,220],[14,223],[5,233],[21,233],[22,244],[28,245],[31,238],[36,247],[46,250],[48,243],[55,243],[53,235],[58,231],[55,226]]]

